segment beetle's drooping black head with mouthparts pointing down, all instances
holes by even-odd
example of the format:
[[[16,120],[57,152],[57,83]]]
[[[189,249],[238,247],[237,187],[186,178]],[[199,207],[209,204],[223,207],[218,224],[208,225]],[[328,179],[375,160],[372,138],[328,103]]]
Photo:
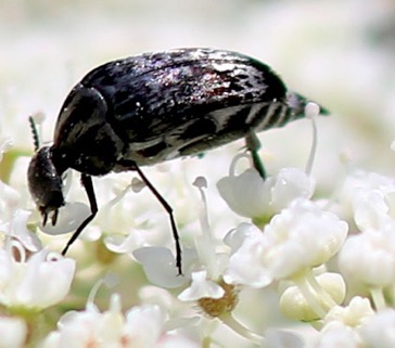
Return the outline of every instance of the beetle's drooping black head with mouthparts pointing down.
[[[54,225],[59,208],[64,205],[64,197],[62,177],[52,162],[50,146],[39,149],[33,156],[27,180],[30,194],[42,216],[42,224],[46,225],[48,216],[52,212],[51,221]]]

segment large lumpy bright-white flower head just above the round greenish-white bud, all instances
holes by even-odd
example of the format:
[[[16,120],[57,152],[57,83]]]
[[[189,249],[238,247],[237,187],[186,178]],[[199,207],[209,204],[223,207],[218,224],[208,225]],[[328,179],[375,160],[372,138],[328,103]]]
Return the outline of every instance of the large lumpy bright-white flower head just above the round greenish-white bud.
[[[265,227],[265,265],[278,279],[320,266],[340,250],[347,231],[334,214],[307,199],[294,201]]]

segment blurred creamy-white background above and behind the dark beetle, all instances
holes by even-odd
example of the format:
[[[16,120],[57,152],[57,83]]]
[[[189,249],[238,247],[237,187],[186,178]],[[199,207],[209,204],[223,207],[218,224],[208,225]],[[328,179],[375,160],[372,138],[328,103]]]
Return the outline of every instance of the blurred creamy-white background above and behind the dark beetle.
[[[319,121],[318,163],[327,176],[342,152],[391,173],[394,23],[391,0],[1,0],[0,131],[31,149],[27,116],[43,112],[51,140],[66,94],[97,65],[143,51],[213,47],[269,64],[290,88],[332,112]],[[305,157],[297,162],[289,146],[301,143],[307,153],[310,128],[290,129],[268,132],[264,145],[281,165],[301,165]]]

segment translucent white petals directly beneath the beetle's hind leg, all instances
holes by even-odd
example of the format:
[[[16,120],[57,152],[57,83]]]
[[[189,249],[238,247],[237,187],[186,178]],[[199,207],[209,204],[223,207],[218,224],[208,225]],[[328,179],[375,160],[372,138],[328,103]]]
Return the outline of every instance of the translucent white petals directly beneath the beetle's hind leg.
[[[233,162],[238,159],[235,157]],[[237,176],[234,165],[229,177],[217,182],[217,189],[229,207],[241,216],[267,221],[273,214],[288,207],[293,199],[309,198],[313,194],[311,179],[300,169],[284,168],[276,177],[263,180],[254,168]]]

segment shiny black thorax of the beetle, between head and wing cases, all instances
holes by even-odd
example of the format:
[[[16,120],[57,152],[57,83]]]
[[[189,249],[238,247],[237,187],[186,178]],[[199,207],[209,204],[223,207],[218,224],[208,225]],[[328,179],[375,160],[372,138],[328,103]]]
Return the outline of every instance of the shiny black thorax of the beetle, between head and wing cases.
[[[73,168],[92,176],[113,170],[124,142],[109,121],[109,112],[97,89],[82,85],[73,89],[55,128],[52,153],[56,168]]]

